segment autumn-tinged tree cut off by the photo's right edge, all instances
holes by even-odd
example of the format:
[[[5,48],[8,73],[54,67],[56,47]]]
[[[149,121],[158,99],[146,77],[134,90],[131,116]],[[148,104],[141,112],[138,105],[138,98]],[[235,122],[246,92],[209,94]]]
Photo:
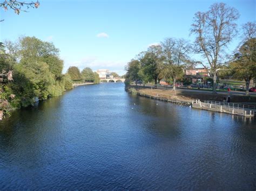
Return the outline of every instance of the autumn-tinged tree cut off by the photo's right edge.
[[[234,61],[230,66],[234,77],[245,80],[246,95],[249,94],[250,81],[256,77],[256,25],[248,22],[243,26],[243,40]]]

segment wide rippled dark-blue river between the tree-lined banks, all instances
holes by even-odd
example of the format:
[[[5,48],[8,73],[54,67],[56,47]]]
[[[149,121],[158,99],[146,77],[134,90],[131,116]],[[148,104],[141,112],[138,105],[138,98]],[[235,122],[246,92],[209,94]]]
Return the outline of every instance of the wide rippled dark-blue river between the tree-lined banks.
[[[81,86],[0,122],[0,189],[256,189],[256,120]]]

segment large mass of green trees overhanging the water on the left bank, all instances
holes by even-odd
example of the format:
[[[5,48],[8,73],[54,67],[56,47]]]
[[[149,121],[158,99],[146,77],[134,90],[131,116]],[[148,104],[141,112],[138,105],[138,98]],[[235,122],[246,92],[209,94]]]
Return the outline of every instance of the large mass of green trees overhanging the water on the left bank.
[[[11,109],[33,105],[36,100],[59,96],[73,88],[70,75],[62,74],[63,61],[52,43],[35,37],[20,38],[18,43],[6,41],[8,54],[0,45],[0,70],[4,72],[0,75],[0,119]]]

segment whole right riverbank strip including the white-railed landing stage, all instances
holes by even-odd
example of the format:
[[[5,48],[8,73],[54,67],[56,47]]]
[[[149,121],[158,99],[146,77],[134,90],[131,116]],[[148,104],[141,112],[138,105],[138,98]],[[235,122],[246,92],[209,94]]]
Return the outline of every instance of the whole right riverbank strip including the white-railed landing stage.
[[[126,90],[131,94],[165,102],[191,105],[192,108],[196,109],[224,112],[226,114],[244,117],[254,117],[256,113],[256,107],[254,105],[256,103],[255,96],[213,94],[208,91],[204,93],[201,91],[197,92],[196,90],[184,91],[181,89],[172,91],[170,89],[153,89],[138,86],[127,86]],[[223,102],[224,98],[227,98],[227,96],[232,103]],[[244,102],[249,105],[239,104],[240,102]]]

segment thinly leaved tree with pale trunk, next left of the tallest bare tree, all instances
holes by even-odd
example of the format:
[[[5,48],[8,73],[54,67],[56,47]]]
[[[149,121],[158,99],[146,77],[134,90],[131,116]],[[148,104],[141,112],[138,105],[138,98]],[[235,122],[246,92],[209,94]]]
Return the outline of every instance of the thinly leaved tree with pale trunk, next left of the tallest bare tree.
[[[183,76],[184,68],[192,64],[188,56],[191,45],[184,39],[167,38],[161,46],[165,60],[160,74],[166,80],[172,79],[175,91],[177,78]]]

